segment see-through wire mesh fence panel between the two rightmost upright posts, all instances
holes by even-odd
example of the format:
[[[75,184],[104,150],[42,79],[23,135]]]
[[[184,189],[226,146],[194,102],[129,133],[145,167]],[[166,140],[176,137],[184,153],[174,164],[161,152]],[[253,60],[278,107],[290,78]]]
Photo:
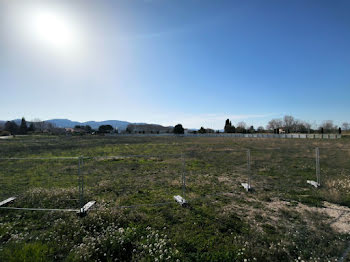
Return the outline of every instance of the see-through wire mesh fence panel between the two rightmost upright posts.
[[[314,149],[261,149],[251,152],[252,187],[257,194],[292,198],[308,194],[316,181]]]

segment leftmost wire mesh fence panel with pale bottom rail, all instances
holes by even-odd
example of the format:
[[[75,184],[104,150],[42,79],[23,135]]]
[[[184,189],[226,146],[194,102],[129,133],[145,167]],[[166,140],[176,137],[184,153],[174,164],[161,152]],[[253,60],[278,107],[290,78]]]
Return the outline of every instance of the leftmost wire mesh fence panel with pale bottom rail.
[[[2,158],[0,208],[78,209],[79,158]],[[19,205],[19,206],[18,206]]]

